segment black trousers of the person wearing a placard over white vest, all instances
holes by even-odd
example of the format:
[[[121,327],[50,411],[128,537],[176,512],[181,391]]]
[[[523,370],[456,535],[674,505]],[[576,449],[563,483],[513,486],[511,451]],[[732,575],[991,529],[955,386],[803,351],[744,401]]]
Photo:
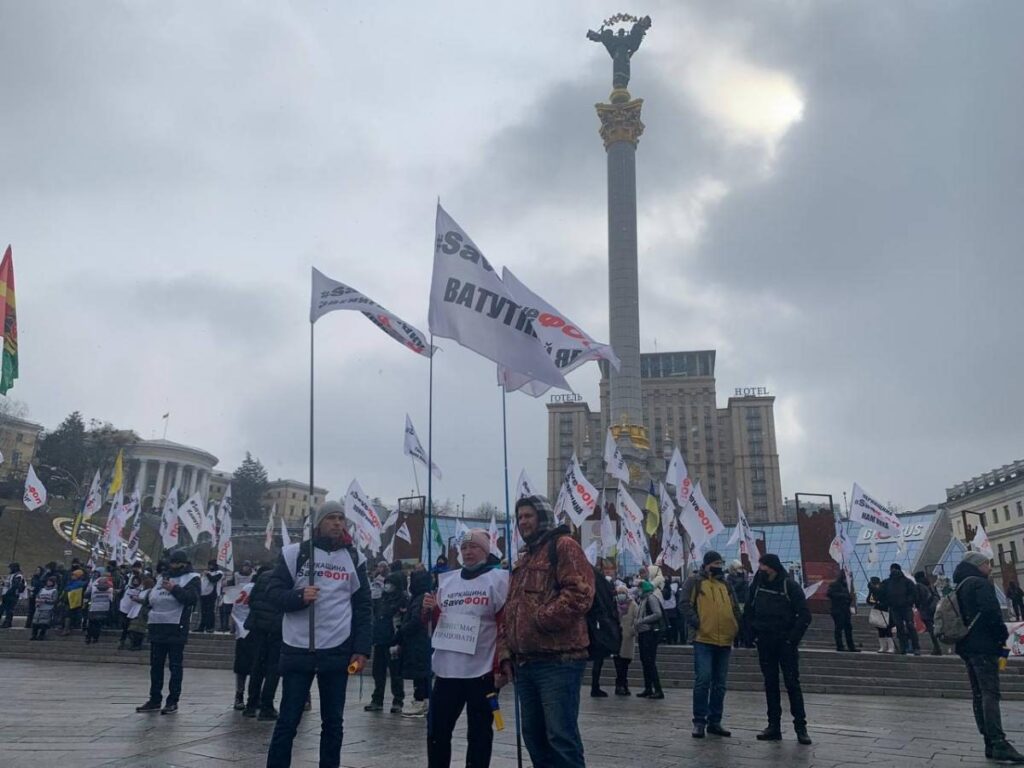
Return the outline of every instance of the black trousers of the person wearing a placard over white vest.
[[[494,715],[487,694],[495,689],[490,675],[478,678],[434,678],[427,719],[427,766],[452,765],[452,732],[466,709],[466,768],[487,768],[494,741]]]

